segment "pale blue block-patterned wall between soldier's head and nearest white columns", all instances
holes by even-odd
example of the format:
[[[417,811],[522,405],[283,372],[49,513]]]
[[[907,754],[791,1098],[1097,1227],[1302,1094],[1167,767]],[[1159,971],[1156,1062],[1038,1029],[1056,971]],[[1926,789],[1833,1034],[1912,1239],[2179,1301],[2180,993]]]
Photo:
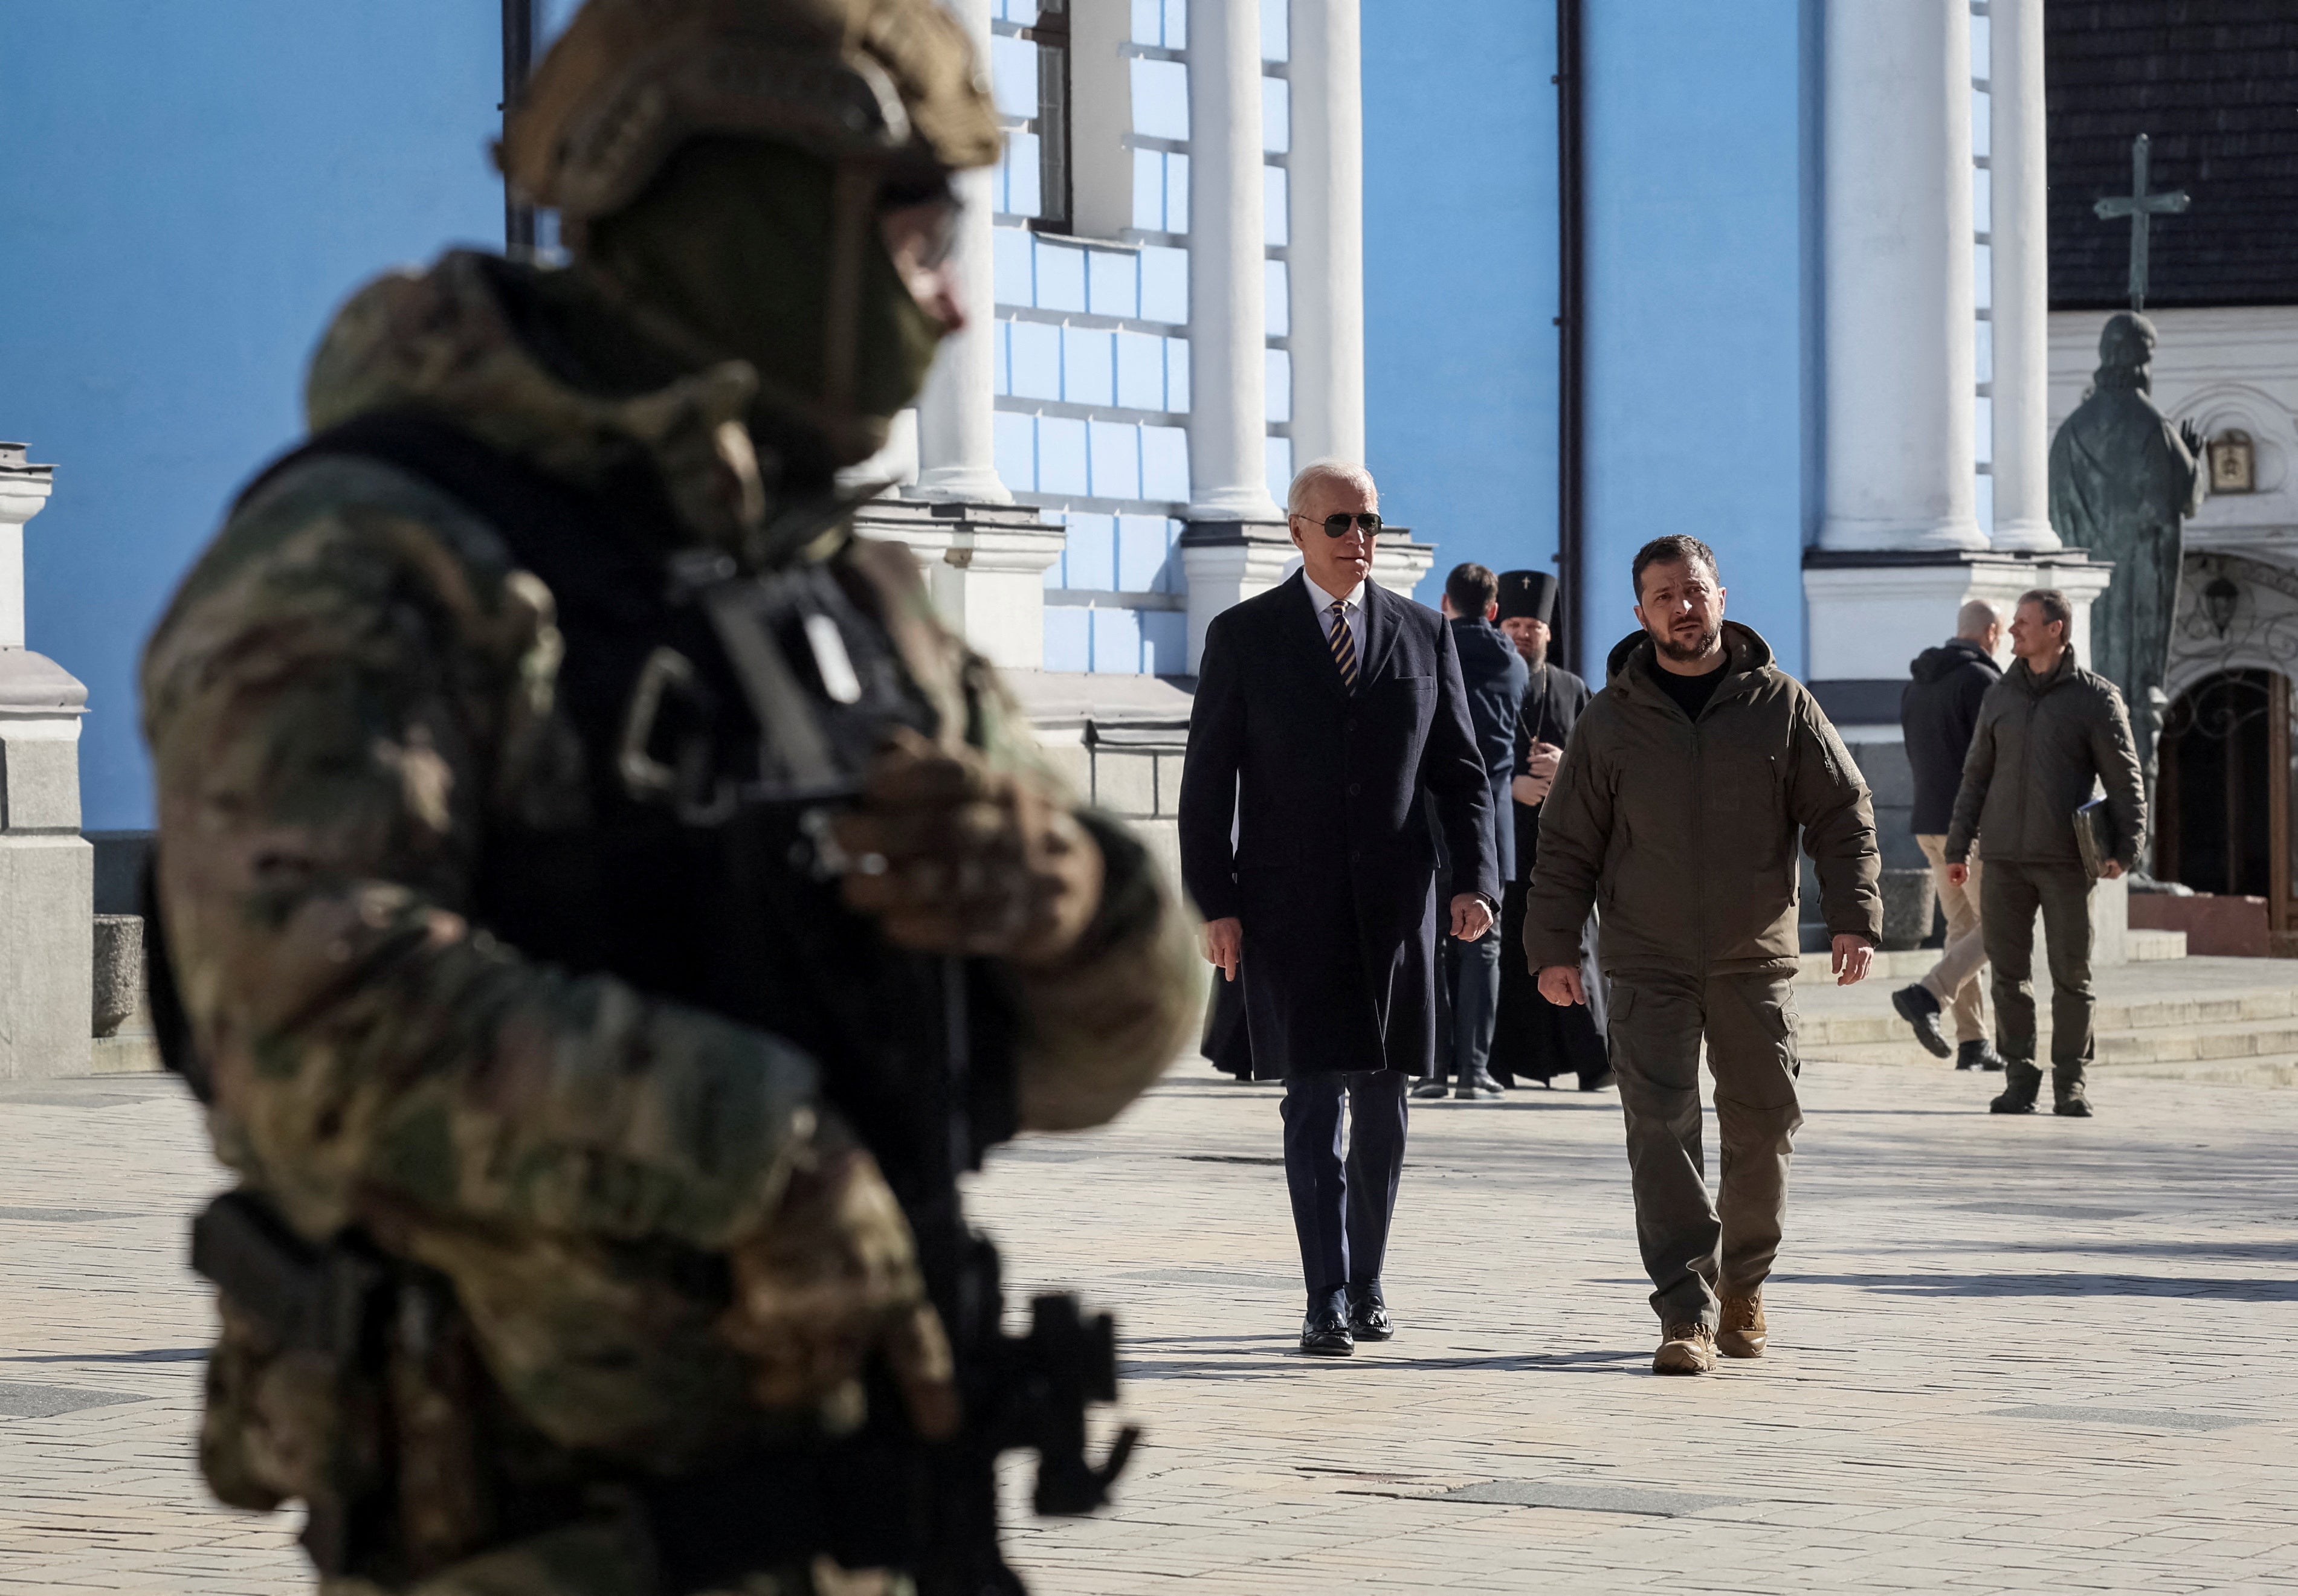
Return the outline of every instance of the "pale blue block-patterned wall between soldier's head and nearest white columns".
[[[1007,126],[997,475],[1069,528],[1046,572],[1046,668],[1174,675],[1188,654],[1188,5],[995,0],[990,23]],[[1101,126],[1117,119],[1103,103],[1071,115],[1080,39],[1117,53],[1124,126]],[[1087,83],[1110,64],[1087,60]],[[1078,193],[1073,131],[1119,140],[1131,204]],[[1089,147],[1082,181],[1108,179]]]

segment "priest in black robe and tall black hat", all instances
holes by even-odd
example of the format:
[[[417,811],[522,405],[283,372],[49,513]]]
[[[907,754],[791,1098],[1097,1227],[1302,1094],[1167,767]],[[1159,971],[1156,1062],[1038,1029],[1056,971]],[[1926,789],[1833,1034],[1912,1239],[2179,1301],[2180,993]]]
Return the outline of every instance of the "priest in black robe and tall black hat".
[[[1501,905],[1501,1013],[1491,1036],[1491,1075],[1507,1086],[1576,1075],[1581,1091],[1611,1084],[1604,1054],[1604,983],[1595,971],[1595,921],[1581,939],[1586,1006],[1558,1008],[1540,997],[1535,971],[1524,958],[1524,898],[1540,859],[1540,806],[1556,781],[1572,723],[1588,707],[1588,684],[1549,664],[1549,620],[1556,611],[1556,579],[1549,572],[1501,572],[1501,632],[1524,654],[1533,684],[1517,714],[1517,769],[1510,811],[1517,824],[1517,868]]]

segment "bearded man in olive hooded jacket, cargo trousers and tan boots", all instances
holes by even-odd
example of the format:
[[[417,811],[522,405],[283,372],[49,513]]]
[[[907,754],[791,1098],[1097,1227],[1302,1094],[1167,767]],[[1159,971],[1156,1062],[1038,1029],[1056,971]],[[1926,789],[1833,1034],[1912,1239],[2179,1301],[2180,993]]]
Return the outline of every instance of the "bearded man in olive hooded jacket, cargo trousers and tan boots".
[[[1611,1068],[1661,1323],[1652,1369],[1707,1373],[1717,1350],[1763,1357],[1767,1341],[1763,1281],[1802,1125],[1797,827],[1841,985],[1866,976],[1882,937],[1882,861],[1836,728],[1760,636],[1724,620],[1714,551],[1655,537],[1634,583],[1643,632],[1611,650],[1611,680],[1565,746],[1524,939],[1540,990],[1586,1001],[1581,925],[1604,902]],[[1717,1201],[1701,1153],[1701,1038],[1724,1144]]]

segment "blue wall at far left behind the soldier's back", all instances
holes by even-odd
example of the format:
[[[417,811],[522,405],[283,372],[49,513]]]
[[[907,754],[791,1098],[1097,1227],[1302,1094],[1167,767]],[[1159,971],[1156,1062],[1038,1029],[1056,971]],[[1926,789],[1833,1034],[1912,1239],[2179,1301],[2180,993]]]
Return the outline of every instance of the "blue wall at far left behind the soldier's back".
[[[55,462],[30,645],[87,682],[90,829],[152,824],[136,654],[301,432],[329,312],[499,243],[499,14],[469,0],[18,5],[0,48],[0,434]]]

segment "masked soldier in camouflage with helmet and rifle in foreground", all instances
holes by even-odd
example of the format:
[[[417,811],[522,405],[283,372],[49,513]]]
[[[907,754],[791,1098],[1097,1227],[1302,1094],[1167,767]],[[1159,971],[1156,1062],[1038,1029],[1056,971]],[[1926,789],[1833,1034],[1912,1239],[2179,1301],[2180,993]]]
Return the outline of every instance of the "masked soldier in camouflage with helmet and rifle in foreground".
[[[1142,1091],[1193,928],[832,496],[995,149],[931,0],[593,0],[503,152],[574,266],[361,292],[152,638],[200,1463],[329,1591],[1013,1591],[995,1454],[1105,1483],[956,1178]]]

